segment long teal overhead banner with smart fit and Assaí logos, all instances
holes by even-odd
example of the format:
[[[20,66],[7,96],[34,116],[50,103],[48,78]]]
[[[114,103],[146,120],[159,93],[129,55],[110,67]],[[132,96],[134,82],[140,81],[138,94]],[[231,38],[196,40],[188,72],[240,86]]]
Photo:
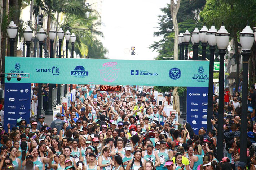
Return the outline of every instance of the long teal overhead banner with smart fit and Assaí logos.
[[[208,87],[209,61],[5,57],[5,72],[29,73],[19,83]]]

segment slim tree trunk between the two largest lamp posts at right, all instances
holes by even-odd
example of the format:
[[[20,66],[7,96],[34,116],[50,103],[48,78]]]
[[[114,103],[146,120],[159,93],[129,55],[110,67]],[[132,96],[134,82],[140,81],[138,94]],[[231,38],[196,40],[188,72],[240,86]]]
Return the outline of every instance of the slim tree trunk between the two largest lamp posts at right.
[[[239,75],[240,75],[240,54],[238,51],[238,42],[237,42],[237,30],[234,30],[234,42],[235,42],[235,61],[237,63],[237,73],[235,76],[235,91],[238,92],[239,87]]]

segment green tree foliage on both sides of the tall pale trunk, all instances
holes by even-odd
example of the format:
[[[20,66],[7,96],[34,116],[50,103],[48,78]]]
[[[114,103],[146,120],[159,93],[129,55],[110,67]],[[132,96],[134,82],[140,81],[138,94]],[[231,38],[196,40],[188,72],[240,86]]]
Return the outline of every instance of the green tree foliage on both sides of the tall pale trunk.
[[[195,26],[202,28],[203,24],[199,18],[199,13],[203,9],[206,0],[182,0],[180,3],[180,9],[177,14],[177,21],[179,26],[179,32],[185,32],[186,29],[191,33]],[[159,15],[159,31],[154,32],[154,36],[163,37],[158,42],[154,42],[149,48],[153,51],[159,52],[159,55],[155,58],[157,60],[173,60],[173,48],[174,48],[174,30],[171,18],[170,4],[167,4],[161,9],[164,15]],[[192,51],[192,44],[190,41],[189,50]],[[202,53],[202,49],[199,47],[198,54]],[[209,58],[209,50],[206,51],[207,58]]]

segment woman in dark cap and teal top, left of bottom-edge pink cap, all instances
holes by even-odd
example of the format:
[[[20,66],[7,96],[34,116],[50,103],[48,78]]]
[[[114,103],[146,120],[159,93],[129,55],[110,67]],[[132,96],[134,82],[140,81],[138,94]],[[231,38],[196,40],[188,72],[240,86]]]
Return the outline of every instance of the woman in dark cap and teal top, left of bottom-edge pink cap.
[[[169,151],[166,149],[166,141],[165,140],[161,140],[159,143],[160,143],[160,150],[157,150],[156,153],[160,160],[160,166],[157,166],[156,170],[164,170],[165,162],[172,158],[173,151]]]

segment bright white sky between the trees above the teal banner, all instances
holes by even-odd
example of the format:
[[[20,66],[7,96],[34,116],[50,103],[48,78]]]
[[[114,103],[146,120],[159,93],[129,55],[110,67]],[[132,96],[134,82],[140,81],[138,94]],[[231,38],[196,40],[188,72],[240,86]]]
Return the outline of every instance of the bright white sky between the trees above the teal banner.
[[[101,7],[101,31],[103,46],[109,50],[109,59],[153,60],[158,52],[149,49],[159,37],[158,15],[160,8],[170,0],[103,0]],[[135,47],[136,55],[131,55]]]

